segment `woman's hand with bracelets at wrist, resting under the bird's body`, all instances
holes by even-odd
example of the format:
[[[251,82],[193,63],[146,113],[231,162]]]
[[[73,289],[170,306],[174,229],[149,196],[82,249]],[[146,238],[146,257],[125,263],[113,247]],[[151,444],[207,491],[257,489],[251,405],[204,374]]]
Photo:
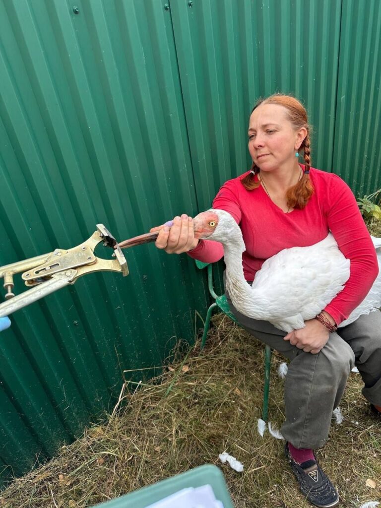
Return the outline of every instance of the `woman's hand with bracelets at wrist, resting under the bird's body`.
[[[300,330],[288,333],[283,339],[289,340],[290,344],[299,347],[305,353],[316,355],[326,345],[329,339],[329,331],[322,323],[315,319],[306,321],[305,325]]]

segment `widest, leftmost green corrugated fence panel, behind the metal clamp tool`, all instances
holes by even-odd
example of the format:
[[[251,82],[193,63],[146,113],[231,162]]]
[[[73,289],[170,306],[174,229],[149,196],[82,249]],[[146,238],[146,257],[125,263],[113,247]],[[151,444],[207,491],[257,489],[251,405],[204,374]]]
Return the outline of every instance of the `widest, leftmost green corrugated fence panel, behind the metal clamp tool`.
[[[122,240],[197,211],[170,13],[76,4],[0,2],[2,265],[73,247],[97,223]],[[206,305],[194,261],[153,245],[126,257],[129,277],[88,275],[2,334],[0,455],[16,474],[112,409],[123,369],[194,339]]]

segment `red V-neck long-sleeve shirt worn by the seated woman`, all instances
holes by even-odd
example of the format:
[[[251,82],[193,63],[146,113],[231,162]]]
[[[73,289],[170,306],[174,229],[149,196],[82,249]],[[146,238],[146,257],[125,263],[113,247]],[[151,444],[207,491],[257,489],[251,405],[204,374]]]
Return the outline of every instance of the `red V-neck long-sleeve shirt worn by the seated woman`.
[[[375,249],[352,190],[337,175],[311,168],[312,197],[303,210],[284,213],[262,185],[245,189],[241,179],[246,174],[227,181],[213,201],[213,208],[229,212],[242,230],[246,280],[253,280],[262,264],[280,250],[312,245],[331,231],[345,258],[351,260],[345,288],[324,309],[339,325],[365,298],[378,274]],[[213,263],[224,256],[224,249],[218,242],[202,240],[188,255]]]

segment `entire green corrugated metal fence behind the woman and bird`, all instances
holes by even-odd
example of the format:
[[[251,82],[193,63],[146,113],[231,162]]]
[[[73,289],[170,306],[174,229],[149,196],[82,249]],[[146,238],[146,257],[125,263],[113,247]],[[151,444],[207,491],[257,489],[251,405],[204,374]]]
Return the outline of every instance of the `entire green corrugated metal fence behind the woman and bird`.
[[[75,246],[100,222],[123,240],[206,209],[248,167],[250,110],[274,91],[306,104],[316,167],[381,185],[376,0],[75,5],[0,0],[2,265]],[[0,336],[0,460],[14,474],[112,408],[123,370],[193,341],[207,303],[194,262],[153,245],[126,257],[128,277],[86,276]]]

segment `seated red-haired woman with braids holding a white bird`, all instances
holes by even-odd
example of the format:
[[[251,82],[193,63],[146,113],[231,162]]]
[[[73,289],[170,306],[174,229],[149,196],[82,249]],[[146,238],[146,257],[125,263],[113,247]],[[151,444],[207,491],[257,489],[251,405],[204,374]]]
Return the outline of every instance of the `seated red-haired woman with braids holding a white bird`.
[[[381,313],[337,329],[377,276],[375,250],[350,188],[337,175],[310,168],[307,113],[298,100],[275,94],[259,101],[248,139],[251,170],[226,182],[213,201],[213,208],[228,211],[240,225],[246,280],[251,283],[263,262],[280,250],[312,245],[328,231],[351,260],[345,288],[315,319],[291,333],[240,314],[227,295],[240,324],[291,360],[284,386],[285,455],[307,499],[316,506],[336,506],[337,490],[313,449],[327,440],[332,411],[354,364],[364,381],[363,395],[381,412]],[[304,165],[298,163],[301,150]],[[156,246],[204,262],[223,257],[220,243],[195,239],[187,215],[175,217],[171,228],[162,227]],[[313,265],[313,259],[308,261]]]

